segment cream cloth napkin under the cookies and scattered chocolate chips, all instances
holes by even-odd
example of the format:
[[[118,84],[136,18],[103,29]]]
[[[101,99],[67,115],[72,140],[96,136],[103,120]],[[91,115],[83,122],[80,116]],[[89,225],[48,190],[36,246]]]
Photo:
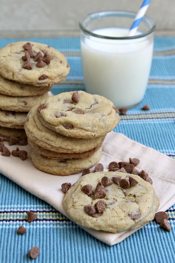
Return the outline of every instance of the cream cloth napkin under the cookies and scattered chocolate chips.
[[[15,145],[8,146],[6,142],[4,144],[10,151],[16,149]],[[69,176],[55,176],[41,172],[32,164],[29,155],[30,146],[19,146],[18,148],[27,150],[27,159],[22,161],[17,157],[0,155],[0,172],[67,216],[62,205],[64,193],[61,190],[61,184],[65,182],[75,183],[81,177],[81,173]],[[153,180],[153,187],[160,200],[158,211],[165,211],[174,205],[175,160],[152,148],[137,143],[123,134],[114,133],[113,131],[108,133],[102,146],[102,157],[99,161],[104,165],[104,171],[108,171],[110,162],[129,162],[129,158],[138,158],[140,162],[136,168],[139,171],[144,169]],[[108,245],[117,244],[136,231],[129,230],[113,234],[93,229],[83,229]]]

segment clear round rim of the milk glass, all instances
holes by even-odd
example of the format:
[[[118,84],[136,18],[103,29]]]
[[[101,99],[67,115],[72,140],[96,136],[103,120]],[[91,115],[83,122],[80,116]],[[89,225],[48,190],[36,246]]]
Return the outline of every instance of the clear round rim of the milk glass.
[[[132,17],[133,16],[133,21],[134,21],[134,18],[136,16],[136,12],[134,11],[127,11],[127,10],[103,10],[103,11],[97,11],[97,12],[93,12],[93,13],[89,13],[88,15],[85,15],[81,18],[80,22],[79,22],[79,27],[80,29],[85,32],[85,34],[89,34],[93,37],[98,37],[98,38],[103,38],[103,39],[136,39],[136,38],[141,38],[141,37],[145,37],[149,34],[151,34],[154,30],[155,30],[155,22],[152,18],[150,18],[149,16],[147,15],[144,15],[141,23],[143,22],[149,22],[149,25],[151,26],[151,28],[146,31],[145,33],[142,33],[142,34],[138,34],[138,35],[135,35],[135,36],[128,36],[128,37],[109,37],[109,36],[103,36],[103,35],[100,35],[100,34],[95,34],[93,33],[92,31],[86,29],[84,27],[84,23],[85,22],[88,22],[90,21],[90,18],[91,20],[95,20],[97,18],[102,18],[102,17],[105,17],[105,16],[115,16],[115,15],[118,15],[118,16],[124,16],[124,15],[128,15],[128,17]]]

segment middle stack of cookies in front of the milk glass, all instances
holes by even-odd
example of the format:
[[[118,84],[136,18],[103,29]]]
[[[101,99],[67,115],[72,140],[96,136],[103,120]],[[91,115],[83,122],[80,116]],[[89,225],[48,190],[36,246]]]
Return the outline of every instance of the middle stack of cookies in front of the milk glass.
[[[51,96],[30,110],[24,125],[32,162],[55,175],[93,167],[106,134],[119,121],[118,110],[102,96],[84,91]]]

